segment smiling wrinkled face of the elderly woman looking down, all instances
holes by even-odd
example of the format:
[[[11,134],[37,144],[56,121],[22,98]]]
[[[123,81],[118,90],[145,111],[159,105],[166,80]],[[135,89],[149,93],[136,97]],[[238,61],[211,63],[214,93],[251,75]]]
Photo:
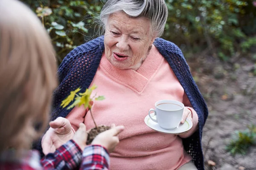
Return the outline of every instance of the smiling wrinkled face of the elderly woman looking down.
[[[105,55],[116,68],[137,70],[153,42],[148,19],[129,17],[124,12],[109,16],[104,37]]]

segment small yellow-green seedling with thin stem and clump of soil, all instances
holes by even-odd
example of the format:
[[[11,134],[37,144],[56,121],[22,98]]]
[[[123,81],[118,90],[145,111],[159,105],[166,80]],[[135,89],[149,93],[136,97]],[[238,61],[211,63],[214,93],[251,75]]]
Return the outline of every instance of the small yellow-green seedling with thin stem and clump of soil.
[[[75,106],[80,107],[81,105],[84,105],[84,108],[87,109],[89,108],[90,111],[90,115],[93,119],[93,123],[95,125],[95,128],[91,129],[90,132],[88,133],[88,137],[87,137],[87,144],[90,144],[93,139],[101,132],[104,132],[105,130],[110,129],[109,126],[105,126],[105,125],[101,125],[101,126],[97,126],[94,118],[93,118],[93,113],[92,113],[92,103],[94,100],[104,100],[105,97],[104,96],[98,96],[96,97],[97,94],[95,94],[92,98],[90,97],[93,90],[95,90],[97,88],[96,85],[93,85],[90,88],[87,88],[86,91],[84,93],[79,93],[77,94],[79,91],[81,91],[81,88],[77,88],[75,91],[71,91],[70,95],[67,96],[66,99],[64,99],[61,102],[61,106],[62,108],[66,108],[70,102],[74,101],[72,103],[72,105],[70,105],[69,107],[67,107],[67,109],[71,109],[74,108]]]

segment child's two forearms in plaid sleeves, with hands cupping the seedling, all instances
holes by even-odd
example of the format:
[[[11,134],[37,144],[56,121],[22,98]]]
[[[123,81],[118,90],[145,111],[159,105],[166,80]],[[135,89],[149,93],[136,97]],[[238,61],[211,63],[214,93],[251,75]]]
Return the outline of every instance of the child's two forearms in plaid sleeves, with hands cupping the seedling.
[[[123,126],[112,126],[110,130],[97,135],[92,145],[86,146],[86,127],[81,123],[73,139],[54,153],[47,154],[41,159],[41,164],[45,169],[75,169],[82,162],[82,170],[108,170],[108,150],[114,150],[119,142],[117,135],[123,130]],[[81,149],[84,150],[83,153]]]

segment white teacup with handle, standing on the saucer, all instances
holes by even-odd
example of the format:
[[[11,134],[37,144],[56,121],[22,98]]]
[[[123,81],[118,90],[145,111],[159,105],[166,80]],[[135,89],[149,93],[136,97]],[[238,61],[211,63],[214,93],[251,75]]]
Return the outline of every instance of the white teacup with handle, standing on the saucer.
[[[159,100],[155,103],[155,109],[150,109],[148,115],[151,120],[157,122],[160,127],[166,130],[175,129],[180,125],[184,110],[184,104],[176,100]],[[154,111],[156,119],[150,116]]]

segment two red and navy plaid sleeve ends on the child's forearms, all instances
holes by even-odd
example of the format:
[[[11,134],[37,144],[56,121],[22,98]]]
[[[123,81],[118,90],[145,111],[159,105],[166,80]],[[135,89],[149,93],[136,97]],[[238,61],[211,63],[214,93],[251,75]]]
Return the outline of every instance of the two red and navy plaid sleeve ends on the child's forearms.
[[[80,166],[81,170],[108,170],[109,153],[101,145],[88,145],[82,153],[76,142],[70,140],[55,153],[47,154],[41,164],[45,169],[73,170]]]

